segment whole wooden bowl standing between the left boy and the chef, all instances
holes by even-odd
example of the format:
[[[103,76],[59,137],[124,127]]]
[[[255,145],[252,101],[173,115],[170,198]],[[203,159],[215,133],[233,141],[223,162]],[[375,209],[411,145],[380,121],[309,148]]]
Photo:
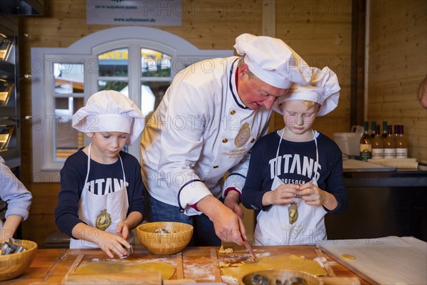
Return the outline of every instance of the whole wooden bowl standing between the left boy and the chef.
[[[176,254],[189,244],[193,226],[181,222],[152,222],[140,224],[137,236],[149,252],[154,254]]]

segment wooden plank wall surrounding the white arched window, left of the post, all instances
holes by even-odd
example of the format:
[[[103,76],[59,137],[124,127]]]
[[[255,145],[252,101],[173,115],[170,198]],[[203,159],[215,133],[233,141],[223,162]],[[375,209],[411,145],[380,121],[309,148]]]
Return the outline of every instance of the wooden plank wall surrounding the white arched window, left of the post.
[[[182,26],[154,26],[174,33],[201,49],[232,49],[241,33],[261,34],[262,1],[183,1]],[[31,73],[31,47],[67,47],[108,25],[86,24],[85,1],[45,1],[43,16],[26,16],[20,21],[22,38],[21,73]],[[21,114],[31,115],[31,82],[21,81]],[[30,217],[22,224],[23,238],[44,246],[44,240],[56,230],[53,210],[57,204],[58,183],[33,183],[31,125],[23,125],[23,183],[33,193]]]

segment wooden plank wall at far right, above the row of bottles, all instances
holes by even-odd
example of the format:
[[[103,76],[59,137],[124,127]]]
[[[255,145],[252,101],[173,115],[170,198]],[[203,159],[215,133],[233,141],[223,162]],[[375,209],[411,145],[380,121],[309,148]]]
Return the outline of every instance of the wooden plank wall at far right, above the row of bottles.
[[[427,163],[427,110],[417,100],[427,75],[427,1],[371,1],[368,119],[404,125],[408,156]]]

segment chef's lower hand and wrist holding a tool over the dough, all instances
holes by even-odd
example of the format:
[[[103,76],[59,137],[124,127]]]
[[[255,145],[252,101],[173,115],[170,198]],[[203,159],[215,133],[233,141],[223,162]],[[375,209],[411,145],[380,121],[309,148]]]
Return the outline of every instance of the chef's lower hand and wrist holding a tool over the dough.
[[[197,203],[197,208],[211,219],[216,236],[223,242],[236,242],[241,245],[242,237],[247,239],[242,219],[216,197],[212,195],[204,197]]]

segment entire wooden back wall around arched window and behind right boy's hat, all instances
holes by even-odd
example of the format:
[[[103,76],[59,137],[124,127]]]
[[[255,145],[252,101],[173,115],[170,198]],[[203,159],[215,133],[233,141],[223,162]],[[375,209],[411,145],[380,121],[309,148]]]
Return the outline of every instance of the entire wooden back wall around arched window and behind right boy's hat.
[[[230,49],[241,33],[263,33],[263,1],[191,1],[184,0],[182,26],[159,26],[185,38],[198,48]],[[330,66],[339,76],[342,96],[339,108],[326,119],[318,120],[318,129],[327,135],[349,130],[349,64],[351,39],[351,0],[276,1],[276,36],[300,53],[308,63],[322,68]],[[326,5],[326,6],[325,6]],[[327,11],[325,10],[327,9]],[[20,19],[21,75],[31,73],[31,47],[67,47],[78,39],[106,25],[87,25],[85,1],[45,1],[43,16]],[[21,81],[21,114],[31,115],[31,81]],[[283,122],[279,116],[277,122]],[[346,123],[347,122],[347,123]],[[280,126],[277,126],[280,128]],[[39,155],[31,150],[31,125],[23,123],[23,183],[33,193],[28,221],[23,222],[23,238],[33,239],[40,247],[48,234],[56,230],[53,210],[60,189],[58,183],[33,182],[32,160]],[[36,175],[36,174],[35,174]]]

